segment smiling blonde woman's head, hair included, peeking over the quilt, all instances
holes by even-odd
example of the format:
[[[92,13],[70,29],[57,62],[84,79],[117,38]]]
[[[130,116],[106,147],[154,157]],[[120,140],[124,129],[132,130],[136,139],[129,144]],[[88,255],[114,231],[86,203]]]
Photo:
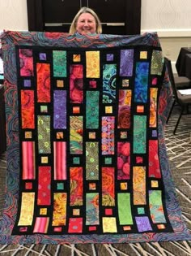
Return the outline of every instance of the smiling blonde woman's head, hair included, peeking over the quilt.
[[[75,15],[69,33],[102,33],[100,19],[96,12],[91,10],[91,8],[82,7]]]

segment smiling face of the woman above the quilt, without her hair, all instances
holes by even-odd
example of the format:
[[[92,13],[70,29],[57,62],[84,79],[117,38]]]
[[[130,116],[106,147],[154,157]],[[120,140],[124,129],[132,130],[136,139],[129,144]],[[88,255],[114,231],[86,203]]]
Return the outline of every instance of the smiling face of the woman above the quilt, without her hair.
[[[96,33],[96,20],[90,13],[82,13],[76,23],[76,32],[80,34]]]

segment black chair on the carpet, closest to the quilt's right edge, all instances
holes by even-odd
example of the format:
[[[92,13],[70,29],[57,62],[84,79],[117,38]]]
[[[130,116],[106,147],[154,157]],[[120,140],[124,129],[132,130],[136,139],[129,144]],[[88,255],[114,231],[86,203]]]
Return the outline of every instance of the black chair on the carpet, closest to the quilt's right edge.
[[[176,133],[176,128],[178,127],[178,124],[180,122],[181,116],[184,114],[189,114],[189,106],[191,106],[191,93],[189,95],[185,95],[184,93],[180,93],[179,89],[182,89],[180,84],[177,83],[177,80],[175,81],[174,74],[172,72],[172,63],[171,60],[164,57],[164,63],[166,63],[166,66],[168,68],[168,76],[172,84],[172,91],[173,91],[173,96],[174,96],[174,101],[172,103],[171,110],[169,111],[168,114],[168,119],[170,118],[172,114],[173,107],[175,104],[180,106],[180,115],[179,118],[176,122],[176,126],[174,128],[173,134]],[[188,89],[188,88],[187,88]],[[191,89],[191,87],[189,88]],[[168,124],[168,119],[167,119],[167,124]]]

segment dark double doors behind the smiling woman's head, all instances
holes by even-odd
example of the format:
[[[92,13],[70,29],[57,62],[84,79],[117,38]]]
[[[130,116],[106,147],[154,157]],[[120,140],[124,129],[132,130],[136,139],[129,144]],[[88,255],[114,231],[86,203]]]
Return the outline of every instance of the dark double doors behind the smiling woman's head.
[[[68,32],[80,7],[99,15],[103,33],[139,34],[141,0],[27,0],[28,30]]]

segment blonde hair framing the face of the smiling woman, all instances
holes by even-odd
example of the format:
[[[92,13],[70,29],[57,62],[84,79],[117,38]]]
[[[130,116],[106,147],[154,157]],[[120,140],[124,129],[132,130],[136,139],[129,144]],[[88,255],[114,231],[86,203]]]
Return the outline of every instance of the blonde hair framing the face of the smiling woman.
[[[76,23],[79,20],[79,16],[83,13],[90,13],[96,20],[96,33],[102,33],[102,26],[100,23],[100,19],[98,15],[96,15],[96,12],[93,11],[91,8],[88,7],[82,7],[79,12],[74,16],[74,20],[72,21],[72,24],[70,25],[70,34],[76,33]]]

